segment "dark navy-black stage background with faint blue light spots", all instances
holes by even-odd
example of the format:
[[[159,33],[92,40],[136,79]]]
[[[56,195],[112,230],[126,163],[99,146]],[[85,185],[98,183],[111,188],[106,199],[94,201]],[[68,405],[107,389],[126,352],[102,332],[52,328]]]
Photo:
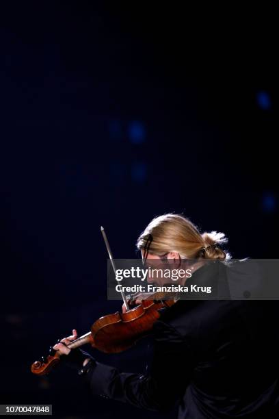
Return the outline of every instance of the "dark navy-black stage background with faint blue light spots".
[[[120,308],[107,253],[183,212],[233,257],[278,255],[274,11],[188,3],[9,1],[0,13],[0,403],[63,418],[158,418],[29,366]],[[119,356],[144,370],[146,343]],[[163,368],[163,366],[162,366]],[[175,412],[165,415],[175,417]]]

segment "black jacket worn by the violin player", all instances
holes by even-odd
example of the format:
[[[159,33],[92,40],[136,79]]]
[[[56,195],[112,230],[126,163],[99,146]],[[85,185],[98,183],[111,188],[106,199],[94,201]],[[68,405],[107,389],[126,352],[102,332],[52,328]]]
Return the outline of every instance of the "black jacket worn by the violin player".
[[[279,418],[278,318],[277,301],[180,300],[153,327],[148,375],[97,362],[86,379],[137,407],[178,403],[181,419]]]

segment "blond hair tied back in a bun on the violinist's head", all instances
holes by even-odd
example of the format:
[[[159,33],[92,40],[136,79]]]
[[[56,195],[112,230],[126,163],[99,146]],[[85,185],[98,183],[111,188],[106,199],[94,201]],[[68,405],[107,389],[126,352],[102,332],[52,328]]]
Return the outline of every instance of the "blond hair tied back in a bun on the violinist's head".
[[[226,243],[224,233],[200,233],[188,218],[178,214],[165,214],[148,224],[137,240],[137,249],[144,249],[148,238],[152,241],[148,252],[163,256],[169,252],[177,252],[182,258],[196,259],[230,259],[230,254],[220,249]]]

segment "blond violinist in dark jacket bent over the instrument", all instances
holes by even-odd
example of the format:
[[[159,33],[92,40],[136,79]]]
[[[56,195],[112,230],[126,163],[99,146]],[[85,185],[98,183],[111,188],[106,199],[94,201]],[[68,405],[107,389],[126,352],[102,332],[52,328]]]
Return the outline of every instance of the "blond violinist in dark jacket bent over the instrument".
[[[187,218],[165,214],[150,222],[137,248],[144,260],[198,259],[192,277],[202,273],[210,285],[218,264],[230,269],[224,242],[223,233],[200,233]],[[216,264],[207,266],[207,259]],[[53,349],[92,394],[155,411],[176,405],[179,419],[279,417],[278,310],[272,301],[178,298],[152,327],[148,374],[120,372],[85,351],[70,350],[75,339],[73,330]]]

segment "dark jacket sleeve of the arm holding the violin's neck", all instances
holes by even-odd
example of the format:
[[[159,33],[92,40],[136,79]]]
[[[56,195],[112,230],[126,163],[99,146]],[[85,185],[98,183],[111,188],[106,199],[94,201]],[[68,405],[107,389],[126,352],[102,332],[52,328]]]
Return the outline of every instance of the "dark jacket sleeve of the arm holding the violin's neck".
[[[165,322],[155,322],[153,337],[149,374],[120,372],[96,362],[86,374],[92,393],[144,409],[171,408],[187,388],[194,357],[189,342]]]

